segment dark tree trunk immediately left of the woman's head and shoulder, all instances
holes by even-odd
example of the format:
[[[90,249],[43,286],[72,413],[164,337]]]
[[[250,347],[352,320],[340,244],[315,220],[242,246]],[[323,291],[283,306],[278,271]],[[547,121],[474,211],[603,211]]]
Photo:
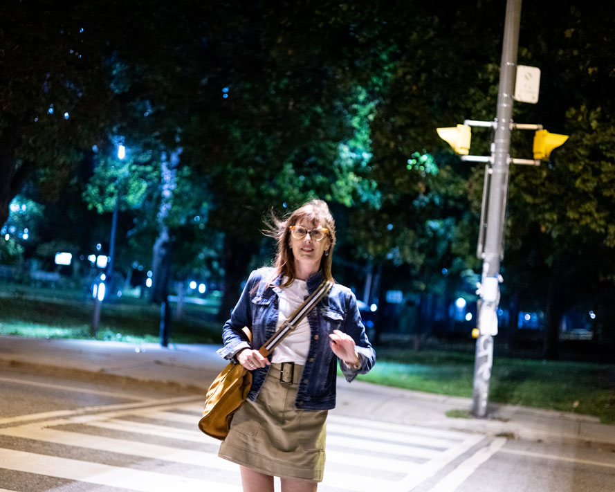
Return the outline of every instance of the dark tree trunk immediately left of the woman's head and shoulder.
[[[224,235],[224,286],[222,289],[222,302],[218,311],[219,322],[225,322],[230,318],[230,311],[237,304],[241,290],[241,282],[248,277],[248,265],[252,259],[253,251],[258,244],[246,241],[242,237]]]

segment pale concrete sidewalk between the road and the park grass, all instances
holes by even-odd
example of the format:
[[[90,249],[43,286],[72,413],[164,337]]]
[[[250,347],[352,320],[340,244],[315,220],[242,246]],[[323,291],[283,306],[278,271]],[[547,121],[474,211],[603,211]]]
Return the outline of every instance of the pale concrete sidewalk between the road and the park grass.
[[[55,367],[106,378],[130,378],[181,385],[202,394],[226,365],[217,345],[130,344],[0,336],[1,367]],[[447,397],[362,381],[338,379],[338,401],[332,412],[405,425],[503,435],[518,439],[580,439],[615,444],[615,426],[587,415],[537,408],[490,405],[486,419],[446,417],[448,410],[470,410],[468,398]]]

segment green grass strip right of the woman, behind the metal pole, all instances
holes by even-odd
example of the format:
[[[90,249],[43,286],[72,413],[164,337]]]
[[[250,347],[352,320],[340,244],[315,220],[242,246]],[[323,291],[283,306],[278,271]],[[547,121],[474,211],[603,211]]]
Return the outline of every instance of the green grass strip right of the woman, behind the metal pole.
[[[371,372],[359,376],[362,381],[472,397],[473,354],[386,348],[376,353],[378,363]],[[495,403],[594,415],[603,423],[615,423],[615,367],[495,357],[489,399]]]

